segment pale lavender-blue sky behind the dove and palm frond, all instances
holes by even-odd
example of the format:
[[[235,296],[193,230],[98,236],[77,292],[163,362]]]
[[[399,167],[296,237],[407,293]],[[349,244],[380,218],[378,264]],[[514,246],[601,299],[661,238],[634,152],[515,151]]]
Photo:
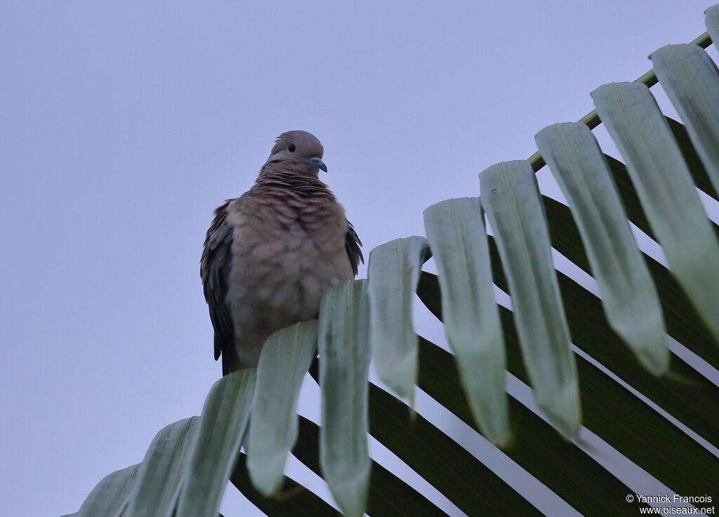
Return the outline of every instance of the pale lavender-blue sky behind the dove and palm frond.
[[[708,6],[4,1],[4,515],[76,511],[160,428],[199,413],[220,375],[198,274],[204,233],[275,136],[321,139],[323,180],[367,256],[422,235],[427,206],[479,195],[482,169],[530,156],[534,134],[584,116],[597,86],[637,78],[650,52],[704,32]],[[303,411],[316,404],[308,388]],[[445,417],[433,415],[452,427]],[[223,511],[260,515],[234,488]]]

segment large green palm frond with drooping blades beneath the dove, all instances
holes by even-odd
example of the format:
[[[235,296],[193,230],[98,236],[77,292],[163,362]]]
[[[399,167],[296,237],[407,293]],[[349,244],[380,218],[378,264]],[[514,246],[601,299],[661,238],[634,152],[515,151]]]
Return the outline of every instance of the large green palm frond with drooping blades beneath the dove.
[[[719,6],[707,9],[706,23],[719,37]],[[413,404],[416,387],[585,516],[636,516],[644,503],[626,503],[631,488],[576,438],[580,406],[586,429],[671,490],[719,496],[710,450],[719,447],[719,386],[677,353],[686,348],[719,369],[719,229],[697,195],[719,200],[719,72],[703,50],[709,33],[654,52],[656,73],[597,88],[595,111],[539,131],[539,152],[526,161],[483,172],[480,198],[428,208],[426,241],[375,248],[367,281],[329,289],[319,323],[270,338],[257,388],[254,371],[223,378],[199,419],[163,429],[142,465],[106,477],[73,515],[216,516],[227,480],[270,516],[337,515],[283,479],[290,448],[347,515],[444,515],[371,460],[368,434],[467,516],[541,515],[400,400]],[[661,113],[649,90],[658,80],[686,126]],[[590,133],[602,121],[626,164]],[[539,192],[533,172],[546,163],[570,207]],[[641,252],[628,223],[661,244],[669,269]],[[551,248],[594,276],[600,297],[554,269]],[[430,254],[439,276],[420,271]],[[495,303],[495,288],[513,310]],[[416,336],[415,291],[444,321],[452,353]],[[315,335],[321,427],[296,415]],[[370,353],[399,398],[367,381]],[[544,416],[505,393],[505,372],[533,388]]]

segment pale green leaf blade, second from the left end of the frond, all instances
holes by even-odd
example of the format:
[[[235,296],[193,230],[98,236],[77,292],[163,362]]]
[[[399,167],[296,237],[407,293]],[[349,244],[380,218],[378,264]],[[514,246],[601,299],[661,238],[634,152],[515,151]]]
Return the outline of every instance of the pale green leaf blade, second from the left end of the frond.
[[[139,466],[124,517],[172,516],[196,421],[192,416],[160,429]]]

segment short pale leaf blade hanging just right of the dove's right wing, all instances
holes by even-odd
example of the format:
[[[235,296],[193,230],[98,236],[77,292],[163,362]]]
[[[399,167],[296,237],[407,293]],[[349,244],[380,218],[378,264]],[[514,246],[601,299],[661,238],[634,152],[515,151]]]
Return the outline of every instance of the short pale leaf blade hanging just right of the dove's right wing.
[[[370,343],[377,375],[412,406],[417,379],[412,301],[425,250],[423,237],[395,239],[370,251],[367,272]]]

